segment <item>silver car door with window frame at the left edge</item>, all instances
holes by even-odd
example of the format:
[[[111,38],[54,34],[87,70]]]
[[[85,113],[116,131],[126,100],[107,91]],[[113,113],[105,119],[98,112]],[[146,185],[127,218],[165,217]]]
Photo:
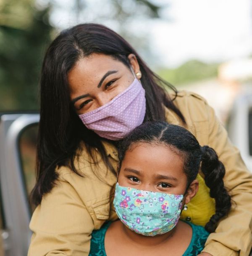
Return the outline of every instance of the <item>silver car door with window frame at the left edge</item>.
[[[26,256],[32,235],[29,193],[34,185],[38,122],[37,113],[0,115],[0,251],[5,256]]]

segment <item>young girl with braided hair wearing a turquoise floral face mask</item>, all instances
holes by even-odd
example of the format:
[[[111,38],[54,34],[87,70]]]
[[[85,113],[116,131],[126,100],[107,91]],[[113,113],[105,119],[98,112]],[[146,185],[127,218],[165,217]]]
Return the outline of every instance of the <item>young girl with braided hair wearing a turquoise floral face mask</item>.
[[[216,202],[206,230],[178,221],[181,209],[197,193],[200,163]],[[198,255],[208,232],[215,231],[231,208],[224,175],[215,151],[200,147],[186,129],[165,122],[140,125],[119,149],[114,206],[121,221],[106,222],[92,233],[89,255]]]

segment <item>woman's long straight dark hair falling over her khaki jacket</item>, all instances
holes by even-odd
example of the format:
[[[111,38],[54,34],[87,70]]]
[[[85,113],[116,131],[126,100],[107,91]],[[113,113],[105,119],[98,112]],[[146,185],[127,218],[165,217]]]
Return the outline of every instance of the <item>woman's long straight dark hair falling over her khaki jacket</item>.
[[[84,141],[90,155],[91,149],[97,148],[110,171],[115,173],[101,138],[81,123],[70,103],[68,72],[79,59],[92,53],[113,56],[127,67],[130,67],[127,56],[133,53],[139,63],[141,82],[146,92],[145,120],[165,120],[164,105],[185,123],[163,86],[171,88],[175,96],[176,89],[155,75],[120,35],[99,24],[80,24],[61,32],[49,46],[42,65],[37,182],[32,191],[35,205],[40,204],[42,196],[53,188],[58,178],[56,167],[67,166],[80,175],[74,166],[74,158],[81,141]]]

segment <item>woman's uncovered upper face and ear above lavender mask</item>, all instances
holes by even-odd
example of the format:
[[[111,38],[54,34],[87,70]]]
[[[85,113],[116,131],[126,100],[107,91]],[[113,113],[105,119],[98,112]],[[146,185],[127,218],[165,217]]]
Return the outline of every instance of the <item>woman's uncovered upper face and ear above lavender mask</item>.
[[[98,53],[76,63],[68,73],[68,84],[71,102],[78,115],[101,107],[131,85],[133,72],[139,72],[139,65],[134,54],[128,59],[132,71],[112,56]]]

